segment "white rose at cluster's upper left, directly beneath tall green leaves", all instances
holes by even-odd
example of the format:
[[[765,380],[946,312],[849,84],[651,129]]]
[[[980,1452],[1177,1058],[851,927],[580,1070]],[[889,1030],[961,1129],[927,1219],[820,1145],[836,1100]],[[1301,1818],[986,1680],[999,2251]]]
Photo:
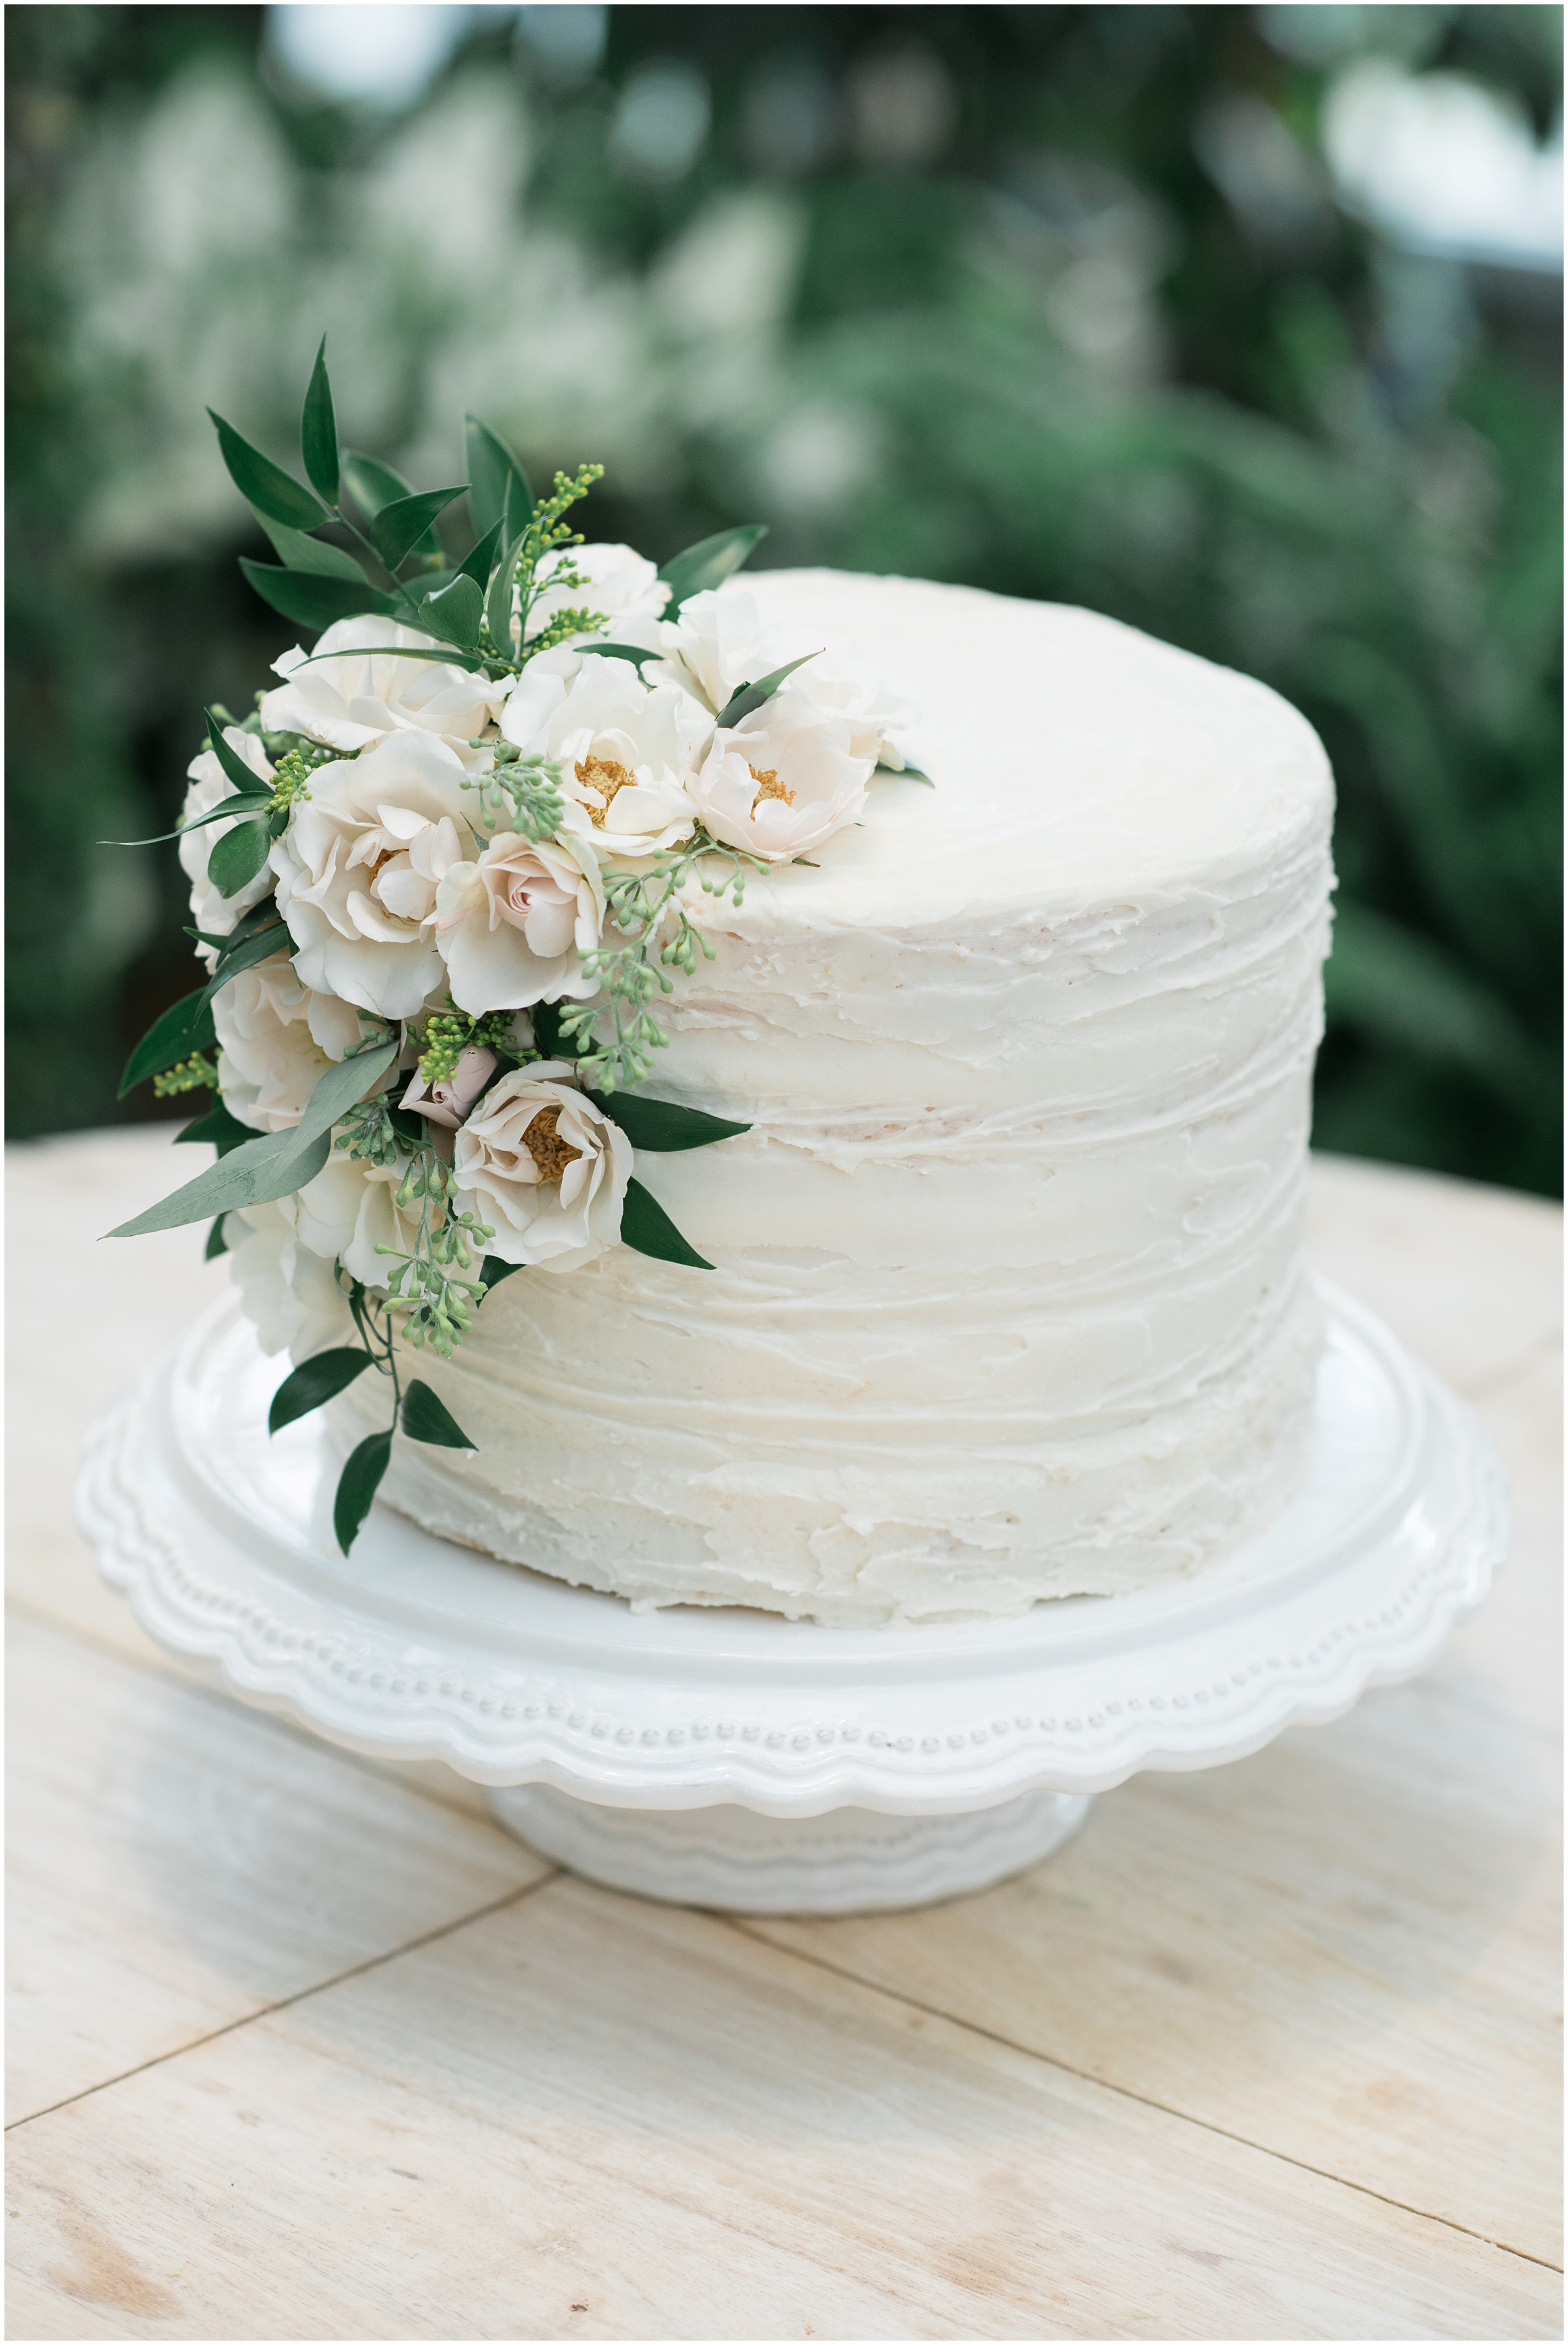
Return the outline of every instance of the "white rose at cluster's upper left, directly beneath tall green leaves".
[[[284,682],[260,704],[267,732],[300,732],[328,748],[370,748],[394,732],[427,732],[466,767],[478,764],[469,741],[495,722],[506,687],[443,659],[375,654],[373,645],[434,650],[429,635],[391,619],[338,619],[309,661],[298,645],[272,661]]]

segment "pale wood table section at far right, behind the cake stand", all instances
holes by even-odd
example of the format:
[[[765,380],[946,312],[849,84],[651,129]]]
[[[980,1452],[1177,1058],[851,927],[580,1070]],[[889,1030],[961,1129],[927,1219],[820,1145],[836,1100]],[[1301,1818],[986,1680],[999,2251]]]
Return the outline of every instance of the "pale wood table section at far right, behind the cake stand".
[[[1315,1156],[1308,1255],[1460,1393],[1563,1332],[1563,1212],[1538,1196]]]

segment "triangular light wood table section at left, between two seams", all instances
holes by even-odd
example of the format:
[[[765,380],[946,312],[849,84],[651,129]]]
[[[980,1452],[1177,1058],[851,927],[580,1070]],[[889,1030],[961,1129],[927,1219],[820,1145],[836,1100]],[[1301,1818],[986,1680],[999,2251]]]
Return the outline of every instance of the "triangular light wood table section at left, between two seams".
[[[495,1827],[54,1630],[12,1627],[9,1688],[12,2115],[544,1874]]]

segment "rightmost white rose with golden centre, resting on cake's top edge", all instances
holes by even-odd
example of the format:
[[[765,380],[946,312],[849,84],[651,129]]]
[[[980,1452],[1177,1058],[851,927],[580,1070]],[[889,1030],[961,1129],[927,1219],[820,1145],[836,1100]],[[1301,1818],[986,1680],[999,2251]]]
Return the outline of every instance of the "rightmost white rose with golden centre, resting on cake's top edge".
[[[853,823],[874,760],[851,753],[851,729],[788,685],[741,725],[713,736],[691,783],[715,840],[785,863]]]

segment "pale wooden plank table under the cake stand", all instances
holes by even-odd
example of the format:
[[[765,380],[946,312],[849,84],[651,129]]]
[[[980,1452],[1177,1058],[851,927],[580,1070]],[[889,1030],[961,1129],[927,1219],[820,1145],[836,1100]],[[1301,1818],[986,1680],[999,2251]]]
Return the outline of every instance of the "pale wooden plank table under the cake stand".
[[[984,1897],[734,1923],[241,1710],[98,1585],[82,1428],[223,1278],[91,1245],[166,1147],[12,1151],[9,2336],[1561,2333],[1552,1208],[1317,1165],[1317,1262],[1514,1477],[1425,1679]]]

